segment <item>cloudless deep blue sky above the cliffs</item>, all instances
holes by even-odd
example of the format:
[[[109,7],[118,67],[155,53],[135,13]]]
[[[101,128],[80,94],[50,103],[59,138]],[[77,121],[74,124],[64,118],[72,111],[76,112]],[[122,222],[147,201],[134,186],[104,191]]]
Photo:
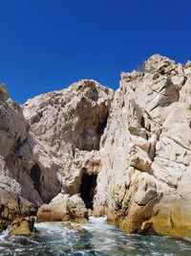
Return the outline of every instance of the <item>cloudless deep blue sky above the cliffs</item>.
[[[153,54],[191,58],[190,0],[0,0],[0,81],[19,103],[121,71]]]

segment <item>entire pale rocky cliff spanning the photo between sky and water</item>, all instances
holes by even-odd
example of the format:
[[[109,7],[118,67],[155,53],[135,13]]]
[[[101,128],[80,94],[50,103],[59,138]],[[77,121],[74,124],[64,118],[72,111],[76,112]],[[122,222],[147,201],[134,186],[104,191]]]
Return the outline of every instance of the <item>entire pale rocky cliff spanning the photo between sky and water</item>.
[[[29,100],[0,90],[1,218],[87,218],[126,232],[191,237],[191,63],[158,55]],[[87,208],[87,209],[86,209]],[[58,210],[59,209],[59,210]]]

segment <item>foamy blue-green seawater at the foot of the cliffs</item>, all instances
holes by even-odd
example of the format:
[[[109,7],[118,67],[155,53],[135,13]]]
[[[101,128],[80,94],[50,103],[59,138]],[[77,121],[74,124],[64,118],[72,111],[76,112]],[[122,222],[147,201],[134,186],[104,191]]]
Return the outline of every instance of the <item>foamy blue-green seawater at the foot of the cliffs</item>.
[[[79,234],[59,222],[37,223],[37,236],[0,235],[0,255],[184,255],[191,256],[191,240],[127,235],[108,225],[104,218],[91,218]]]

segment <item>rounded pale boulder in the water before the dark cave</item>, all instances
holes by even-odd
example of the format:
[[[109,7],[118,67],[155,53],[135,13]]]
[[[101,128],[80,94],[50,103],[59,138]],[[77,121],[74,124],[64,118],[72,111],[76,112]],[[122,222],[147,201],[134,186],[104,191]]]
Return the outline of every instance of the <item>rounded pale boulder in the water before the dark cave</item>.
[[[37,222],[88,220],[88,210],[79,195],[58,194],[49,204],[43,204],[37,212]]]

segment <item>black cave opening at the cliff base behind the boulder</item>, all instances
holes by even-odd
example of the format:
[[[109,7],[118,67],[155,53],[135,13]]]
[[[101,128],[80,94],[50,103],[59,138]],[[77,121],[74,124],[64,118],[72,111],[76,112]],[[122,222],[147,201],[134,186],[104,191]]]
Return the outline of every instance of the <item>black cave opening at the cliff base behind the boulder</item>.
[[[93,199],[96,191],[96,177],[97,175],[82,175],[79,191],[86,208],[91,210],[93,210]]]

